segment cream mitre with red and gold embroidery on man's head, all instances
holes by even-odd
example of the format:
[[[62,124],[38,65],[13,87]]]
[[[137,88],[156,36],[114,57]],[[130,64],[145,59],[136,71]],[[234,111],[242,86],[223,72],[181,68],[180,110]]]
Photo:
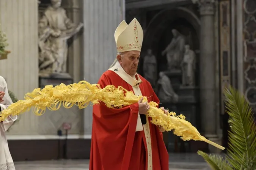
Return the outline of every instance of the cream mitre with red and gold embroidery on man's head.
[[[123,20],[115,31],[116,48],[119,53],[125,51],[141,51],[143,29],[136,18],[129,23]]]

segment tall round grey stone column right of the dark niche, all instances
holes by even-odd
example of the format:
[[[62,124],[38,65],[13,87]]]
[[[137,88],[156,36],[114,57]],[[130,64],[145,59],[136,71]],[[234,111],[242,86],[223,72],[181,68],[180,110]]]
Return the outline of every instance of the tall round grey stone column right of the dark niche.
[[[215,55],[215,1],[197,1],[201,17],[200,36],[200,107],[201,107],[201,129],[203,135],[217,141],[217,114],[216,109],[216,55]]]

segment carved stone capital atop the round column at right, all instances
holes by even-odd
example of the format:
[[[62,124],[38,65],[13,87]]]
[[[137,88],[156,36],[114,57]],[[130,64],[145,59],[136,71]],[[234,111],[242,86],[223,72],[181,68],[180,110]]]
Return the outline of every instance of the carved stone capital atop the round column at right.
[[[216,0],[192,0],[197,3],[201,15],[214,15]]]

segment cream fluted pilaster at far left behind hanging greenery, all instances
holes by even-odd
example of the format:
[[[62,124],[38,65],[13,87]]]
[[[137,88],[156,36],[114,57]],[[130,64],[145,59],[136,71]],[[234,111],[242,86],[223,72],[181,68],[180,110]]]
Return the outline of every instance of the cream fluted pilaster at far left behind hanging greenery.
[[[11,51],[1,60],[0,75],[18,99],[38,88],[38,0],[0,0],[0,23]],[[18,117],[8,134],[36,134],[38,116]]]

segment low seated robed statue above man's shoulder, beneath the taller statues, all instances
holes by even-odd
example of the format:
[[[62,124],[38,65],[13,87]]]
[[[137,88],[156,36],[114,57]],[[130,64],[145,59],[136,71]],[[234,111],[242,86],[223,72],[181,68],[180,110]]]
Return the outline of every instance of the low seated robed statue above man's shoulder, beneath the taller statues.
[[[174,92],[171,80],[164,72],[159,73],[159,80],[157,82],[157,96],[161,102],[173,102],[176,103],[179,100],[179,96]]]

